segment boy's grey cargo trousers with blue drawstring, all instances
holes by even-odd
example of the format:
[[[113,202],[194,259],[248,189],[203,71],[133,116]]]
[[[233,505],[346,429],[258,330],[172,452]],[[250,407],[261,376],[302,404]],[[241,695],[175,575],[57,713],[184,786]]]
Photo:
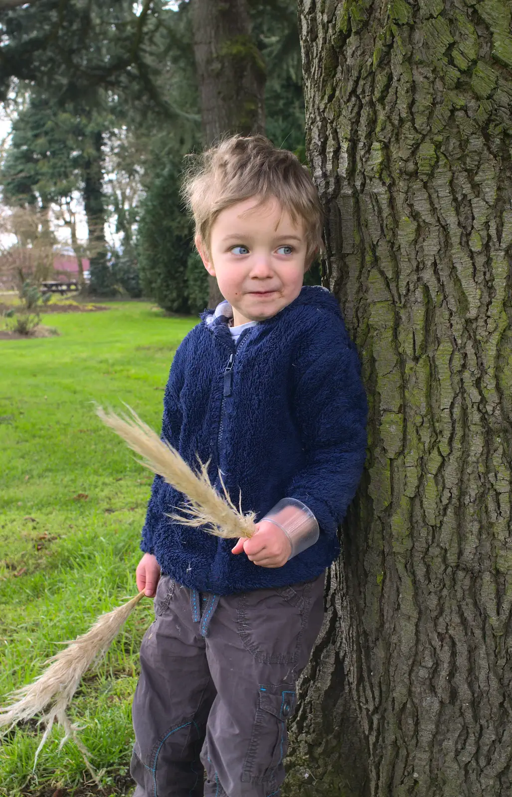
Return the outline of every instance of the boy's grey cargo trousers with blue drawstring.
[[[279,795],[324,583],[219,597],[160,579],[132,709],[134,797]]]

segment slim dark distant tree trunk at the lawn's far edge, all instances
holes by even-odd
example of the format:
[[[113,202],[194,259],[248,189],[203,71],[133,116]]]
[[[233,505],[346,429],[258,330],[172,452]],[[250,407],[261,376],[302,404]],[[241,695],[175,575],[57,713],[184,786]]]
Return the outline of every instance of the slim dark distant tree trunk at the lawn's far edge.
[[[96,131],[91,136],[89,156],[84,168],[84,207],[89,228],[89,291],[108,293],[111,289],[110,270],[107,263],[105,241],[105,212],[103,198],[103,134]]]

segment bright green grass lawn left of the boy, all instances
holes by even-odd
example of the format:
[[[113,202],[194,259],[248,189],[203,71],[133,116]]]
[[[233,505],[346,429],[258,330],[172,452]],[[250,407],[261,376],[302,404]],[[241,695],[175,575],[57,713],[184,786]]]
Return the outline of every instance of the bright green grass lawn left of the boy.
[[[54,314],[60,337],[0,340],[0,701],[46,658],[136,592],[140,528],[152,481],[94,414],[93,402],[130,404],[160,429],[175,348],[196,323],[144,302]],[[85,678],[73,719],[100,771],[103,795],[128,795],[130,705],[144,599],[107,658]],[[0,745],[0,795],[97,794],[73,742],[43,748],[35,723]]]

